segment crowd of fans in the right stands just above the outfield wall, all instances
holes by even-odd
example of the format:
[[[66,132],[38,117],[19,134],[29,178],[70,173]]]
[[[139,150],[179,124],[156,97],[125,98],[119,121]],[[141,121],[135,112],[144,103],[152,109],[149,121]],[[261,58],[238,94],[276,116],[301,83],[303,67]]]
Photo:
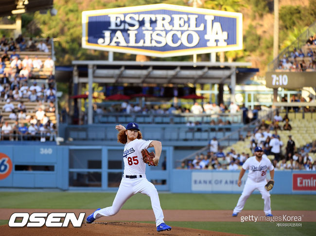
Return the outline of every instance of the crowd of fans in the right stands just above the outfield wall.
[[[282,127],[279,126],[280,122],[284,122]],[[254,132],[248,132],[246,137],[241,135],[240,140],[250,140],[249,149],[242,153],[236,153],[233,148],[224,153],[216,137],[213,137],[207,154],[201,153],[193,160],[182,161],[179,169],[240,170],[246,159],[253,156],[255,147],[260,146],[265,157],[273,156],[271,161],[276,170],[315,171],[316,160],[310,154],[316,153],[316,141],[299,148],[289,135],[284,144],[278,135],[280,130],[291,130],[291,125],[287,115],[281,117],[276,113],[273,120],[263,120]],[[286,145],[285,153],[281,150],[283,145]]]

